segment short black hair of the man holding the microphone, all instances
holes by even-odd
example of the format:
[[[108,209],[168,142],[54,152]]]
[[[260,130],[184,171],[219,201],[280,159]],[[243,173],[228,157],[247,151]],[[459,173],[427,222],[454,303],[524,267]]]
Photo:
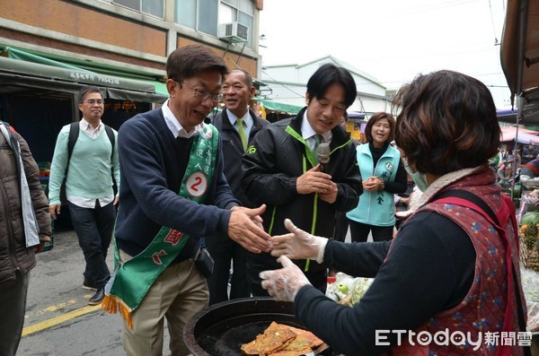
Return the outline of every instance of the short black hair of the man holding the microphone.
[[[346,69],[326,63],[322,65],[307,82],[307,93],[310,98],[320,99],[331,84],[338,83],[344,88],[344,101],[346,107],[354,103],[358,96],[356,82]]]

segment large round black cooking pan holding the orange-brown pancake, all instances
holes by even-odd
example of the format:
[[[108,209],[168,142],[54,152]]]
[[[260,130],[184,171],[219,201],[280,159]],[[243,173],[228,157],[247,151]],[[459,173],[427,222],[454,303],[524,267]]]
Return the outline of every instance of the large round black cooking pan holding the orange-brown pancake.
[[[252,342],[272,321],[305,329],[294,317],[291,302],[257,297],[204,308],[185,326],[183,338],[194,356],[243,356],[242,344]]]

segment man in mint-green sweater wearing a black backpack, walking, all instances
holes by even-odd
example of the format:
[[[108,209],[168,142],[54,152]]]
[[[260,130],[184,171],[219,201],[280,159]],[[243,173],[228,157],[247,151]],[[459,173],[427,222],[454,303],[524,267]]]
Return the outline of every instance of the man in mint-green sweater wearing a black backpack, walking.
[[[111,169],[119,187],[118,133],[102,123],[102,94],[97,87],[79,92],[83,118],[62,127],[50,165],[49,213],[61,213],[60,191],[66,177],[66,198],[71,221],[86,266],[83,288],[95,291],[88,304],[101,304],[110,278],[107,250],[116,219],[118,195],[114,195]],[[75,144],[76,143],[76,144]]]

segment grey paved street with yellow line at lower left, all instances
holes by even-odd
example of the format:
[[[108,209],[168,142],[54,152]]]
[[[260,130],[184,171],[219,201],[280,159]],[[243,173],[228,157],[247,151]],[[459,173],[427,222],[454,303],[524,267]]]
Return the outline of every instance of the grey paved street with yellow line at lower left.
[[[38,265],[31,271],[17,355],[123,355],[121,317],[87,304],[93,291],[82,288],[84,256],[75,231],[64,225],[57,224],[54,247],[38,255]],[[107,260],[111,269],[112,247]]]

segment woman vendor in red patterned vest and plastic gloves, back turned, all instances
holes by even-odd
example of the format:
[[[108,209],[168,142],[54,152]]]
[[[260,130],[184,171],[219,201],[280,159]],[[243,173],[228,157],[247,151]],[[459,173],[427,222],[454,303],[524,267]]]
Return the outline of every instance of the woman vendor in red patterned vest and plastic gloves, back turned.
[[[395,239],[345,244],[287,220],[291,233],[274,236],[271,252],[284,268],[262,272],[262,287],[294,301],[302,325],[349,356],[524,354],[515,209],[488,164],[500,135],[490,91],[440,71],[402,87],[393,104],[395,142],[423,190]],[[353,308],[341,306],[289,258],[375,280]]]

